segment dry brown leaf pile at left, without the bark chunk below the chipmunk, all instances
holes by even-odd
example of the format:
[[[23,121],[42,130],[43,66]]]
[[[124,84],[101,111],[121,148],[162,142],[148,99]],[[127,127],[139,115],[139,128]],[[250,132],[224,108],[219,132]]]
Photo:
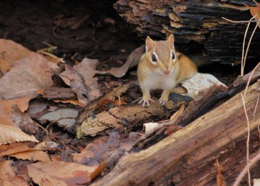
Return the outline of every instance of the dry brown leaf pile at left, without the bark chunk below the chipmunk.
[[[93,77],[98,60],[84,58],[74,67],[64,66],[45,50],[36,53],[5,39],[0,40],[0,54],[0,185],[89,183],[111,152],[131,147],[140,137],[112,131],[80,141],[71,135],[79,111],[93,100],[99,100],[92,104],[99,111],[126,104],[120,95],[129,85],[122,83],[101,97]]]

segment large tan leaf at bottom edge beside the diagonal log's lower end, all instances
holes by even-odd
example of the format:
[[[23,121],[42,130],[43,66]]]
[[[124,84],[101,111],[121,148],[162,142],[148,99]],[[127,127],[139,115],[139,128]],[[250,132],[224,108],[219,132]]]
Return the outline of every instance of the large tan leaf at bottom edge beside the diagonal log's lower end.
[[[28,174],[38,185],[77,186],[89,183],[103,169],[77,163],[53,161],[27,165]],[[97,172],[98,170],[98,172]]]

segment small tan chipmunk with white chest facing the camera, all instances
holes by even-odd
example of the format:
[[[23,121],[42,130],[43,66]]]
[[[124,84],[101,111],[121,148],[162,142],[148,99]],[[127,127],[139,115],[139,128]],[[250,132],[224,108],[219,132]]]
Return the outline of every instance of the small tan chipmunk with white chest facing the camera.
[[[150,106],[150,91],[162,89],[158,102],[166,104],[172,89],[187,78],[191,78],[197,72],[197,67],[184,54],[174,49],[174,36],[171,34],[167,40],[152,40],[146,38],[146,52],[142,55],[138,65],[138,80],[142,89],[142,100],[139,104]]]

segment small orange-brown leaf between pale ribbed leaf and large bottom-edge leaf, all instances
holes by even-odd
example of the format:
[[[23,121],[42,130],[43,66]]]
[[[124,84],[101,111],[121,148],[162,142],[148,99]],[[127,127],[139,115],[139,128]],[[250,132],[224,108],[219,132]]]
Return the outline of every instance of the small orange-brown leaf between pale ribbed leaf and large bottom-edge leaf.
[[[9,156],[16,157],[16,159],[51,162],[49,155],[42,150],[30,149],[25,152],[16,152],[14,154],[10,154]]]

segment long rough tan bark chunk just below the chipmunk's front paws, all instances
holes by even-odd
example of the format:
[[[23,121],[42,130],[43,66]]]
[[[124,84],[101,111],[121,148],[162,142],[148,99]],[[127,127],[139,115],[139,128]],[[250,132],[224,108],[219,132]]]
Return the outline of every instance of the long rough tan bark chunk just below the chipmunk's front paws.
[[[128,132],[137,126],[142,126],[144,122],[165,119],[174,110],[174,108],[168,110],[157,103],[151,104],[148,108],[141,105],[110,108],[106,112],[95,115],[94,118],[86,118],[77,129],[77,137],[95,136],[109,128],[116,128],[119,132]]]

